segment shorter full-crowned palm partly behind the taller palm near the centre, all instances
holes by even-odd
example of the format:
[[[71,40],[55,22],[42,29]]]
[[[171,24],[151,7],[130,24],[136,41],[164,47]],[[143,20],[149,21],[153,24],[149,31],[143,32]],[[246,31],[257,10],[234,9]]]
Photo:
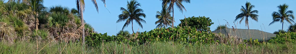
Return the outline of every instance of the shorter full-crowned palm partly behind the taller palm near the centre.
[[[170,25],[172,23],[172,17],[170,16],[171,11],[167,9],[167,6],[164,5],[162,6],[163,9],[159,12],[156,12],[156,18],[158,19],[155,24],[158,24],[156,26],[156,28],[160,28],[160,27],[168,27],[168,26],[172,26]]]

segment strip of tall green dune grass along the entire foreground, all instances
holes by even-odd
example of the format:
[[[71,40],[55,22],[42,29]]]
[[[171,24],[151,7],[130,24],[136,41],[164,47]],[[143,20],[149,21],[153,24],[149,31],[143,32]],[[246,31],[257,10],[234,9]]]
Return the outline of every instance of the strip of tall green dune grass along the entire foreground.
[[[39,50],[47,43],[39,44]],[[0,44],[0,54],[36,54],[39,50],[34,42]],[[295,54],[296,44],[261,44],[261,45],[225,45],[225,44],[173,44],[172,42],[152,42],[144,45],[105,42],[97,47],[81,50],[81,43],[50,43],[40,54]]]

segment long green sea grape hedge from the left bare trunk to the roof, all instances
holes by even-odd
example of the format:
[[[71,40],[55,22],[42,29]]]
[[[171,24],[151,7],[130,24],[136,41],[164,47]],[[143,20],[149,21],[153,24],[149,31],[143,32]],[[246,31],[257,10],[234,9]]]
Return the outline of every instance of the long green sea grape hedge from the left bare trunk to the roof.
[[[189,43],[208,43],[214,42],[214,33],[198,31],[190,27],[175,27],[175,28],[156,28],[149,32],[137,32],[133,33],[130,37],[124,37],[123,35],[109,36],[107,33],[97,34],[92,33],[86,37],[86,44],[90,46],[98,46],[102,42],[116,41],[116,42],[128,42],[129,44],[145,44],[148,42],[166,42],[175,41],[184,44]]]

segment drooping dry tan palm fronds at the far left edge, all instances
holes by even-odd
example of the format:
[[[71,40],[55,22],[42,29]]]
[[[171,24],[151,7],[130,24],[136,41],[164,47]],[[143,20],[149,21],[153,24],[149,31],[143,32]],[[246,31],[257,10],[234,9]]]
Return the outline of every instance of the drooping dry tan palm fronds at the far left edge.
[[[7,23],[0,22],[0,40],[1,42],[14,43],[16,34],[14,28]]]

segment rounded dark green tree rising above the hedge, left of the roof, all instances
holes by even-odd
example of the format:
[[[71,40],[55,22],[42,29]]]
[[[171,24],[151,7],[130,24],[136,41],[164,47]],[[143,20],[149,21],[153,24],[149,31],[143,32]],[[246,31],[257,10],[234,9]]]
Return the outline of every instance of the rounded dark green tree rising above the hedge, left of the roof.
[[[181,23],[179,26],[190,26],[192,28],[196,28],[198,31],[210,31],[210,26],[214,24],[210,17],[188,17],[185,19],[180,19]]]

